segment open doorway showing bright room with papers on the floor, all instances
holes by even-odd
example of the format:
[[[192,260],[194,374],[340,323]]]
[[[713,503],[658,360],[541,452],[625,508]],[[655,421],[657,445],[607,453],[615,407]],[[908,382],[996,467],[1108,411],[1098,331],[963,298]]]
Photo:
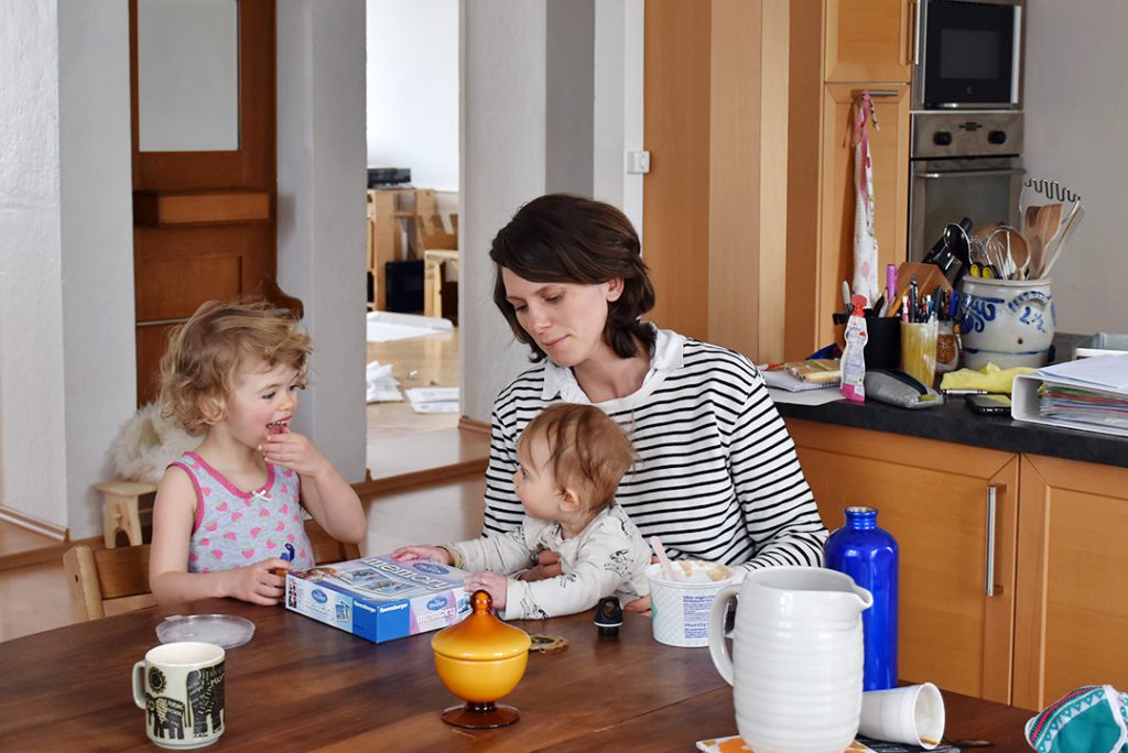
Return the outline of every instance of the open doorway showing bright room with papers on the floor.
[[[458,25],[459,0],[367,0],[372,478],[460,417]]]

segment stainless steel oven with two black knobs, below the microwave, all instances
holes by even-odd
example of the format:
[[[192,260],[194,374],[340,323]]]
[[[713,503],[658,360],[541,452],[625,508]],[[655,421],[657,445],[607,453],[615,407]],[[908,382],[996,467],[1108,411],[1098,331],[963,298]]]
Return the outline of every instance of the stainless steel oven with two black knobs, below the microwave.
[[[909,254],[919,262],[950,222],[1019,228],[1022,113],[915,113]]]

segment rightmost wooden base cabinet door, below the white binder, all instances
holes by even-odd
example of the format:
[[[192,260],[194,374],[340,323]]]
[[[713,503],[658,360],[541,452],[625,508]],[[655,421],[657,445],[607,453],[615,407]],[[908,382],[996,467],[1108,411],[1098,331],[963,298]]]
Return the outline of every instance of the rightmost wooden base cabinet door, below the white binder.
[[[1128,469],[1023,455],[1014,703],[1128,688]]]

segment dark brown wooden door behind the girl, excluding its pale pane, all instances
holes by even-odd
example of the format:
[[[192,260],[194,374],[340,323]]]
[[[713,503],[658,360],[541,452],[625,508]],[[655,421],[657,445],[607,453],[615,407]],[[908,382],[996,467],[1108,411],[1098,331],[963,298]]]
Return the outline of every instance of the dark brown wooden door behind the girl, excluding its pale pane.
[[[277,291],[275,5],[238,7],[238,147],[141,151],[138,8],[130,2],[138,404],[156,397],[169,330],[204,301]]]

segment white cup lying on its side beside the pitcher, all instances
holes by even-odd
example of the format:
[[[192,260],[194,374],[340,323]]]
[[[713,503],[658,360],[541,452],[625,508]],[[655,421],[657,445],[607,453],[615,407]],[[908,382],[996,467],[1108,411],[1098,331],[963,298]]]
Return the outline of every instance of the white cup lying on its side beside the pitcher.
[[[862,693],[858,733],[932,750],[944,736],[944,698],[931,682]]]

